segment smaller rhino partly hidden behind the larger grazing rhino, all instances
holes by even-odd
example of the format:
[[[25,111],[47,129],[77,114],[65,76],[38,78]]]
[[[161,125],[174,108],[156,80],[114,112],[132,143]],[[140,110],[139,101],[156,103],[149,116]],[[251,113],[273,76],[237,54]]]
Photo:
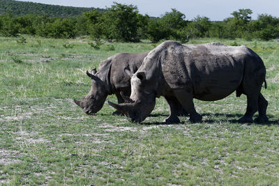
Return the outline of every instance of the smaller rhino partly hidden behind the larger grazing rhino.
[[[100,63],[98,72],[96,69],[93,69],[91,73],[87,71],[86,75],[92,79],[91,90],[83,100],[74,100],[75,104],[81,107],[86,114],[95,114],[103,107],[107,95],[115,94],[118,102],[123,103],[121,94],[130,96],[131,90],[130,76],[126,72],[136,72],[148,53],[149,51],[136,54],[115,54]],[[178,111],[179,115],[187,114],[176,98],[165,96],[165,99],[171,111]],[[115,111],[114,114],[121,113]],[[167,120],[167,122],[172,121]]]

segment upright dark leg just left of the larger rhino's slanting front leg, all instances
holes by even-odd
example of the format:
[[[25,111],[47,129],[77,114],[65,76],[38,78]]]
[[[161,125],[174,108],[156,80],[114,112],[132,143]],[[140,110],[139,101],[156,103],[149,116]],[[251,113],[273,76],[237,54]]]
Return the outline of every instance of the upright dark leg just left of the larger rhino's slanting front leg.
[[[178,114],[178,107],[177,104],[180,104],[175,97],[165,96],[165,100],[169,104],[169,116],[165,118],[165,123],[180,123],[179,118],[177,117]]]

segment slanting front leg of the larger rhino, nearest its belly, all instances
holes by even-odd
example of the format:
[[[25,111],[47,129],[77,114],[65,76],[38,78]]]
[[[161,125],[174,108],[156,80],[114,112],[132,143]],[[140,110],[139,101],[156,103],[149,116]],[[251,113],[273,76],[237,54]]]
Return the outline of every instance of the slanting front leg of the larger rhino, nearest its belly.
[[[181,103],[181,105],[189,112],[190,118],[189,121],[192,123],[197,123],[202,121],[202,116],[197,113],[195,110],[195,105],[193,102],[193,94],[189,93],[185,90],[176,90],[174,91],[174,95],[176,96],[177,100]]]

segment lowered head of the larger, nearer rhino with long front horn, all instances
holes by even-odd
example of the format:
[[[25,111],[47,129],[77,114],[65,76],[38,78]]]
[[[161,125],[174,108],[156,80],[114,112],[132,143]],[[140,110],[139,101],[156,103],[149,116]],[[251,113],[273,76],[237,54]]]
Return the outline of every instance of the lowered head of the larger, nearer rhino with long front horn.
[[[154,109],[156,93],[146,79],[146,72],[136,72],[134,75],[127,69],[125,72],[131,77],[130,98],[121,94],[125,103],[115,104],[108,101],[108,104],[128,116],[132,122],[140,123]]]

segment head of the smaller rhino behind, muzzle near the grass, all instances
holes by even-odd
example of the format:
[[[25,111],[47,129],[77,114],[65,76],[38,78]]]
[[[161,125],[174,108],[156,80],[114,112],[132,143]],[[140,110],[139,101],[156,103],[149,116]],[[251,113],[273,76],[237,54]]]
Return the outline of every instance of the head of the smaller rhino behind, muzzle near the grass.
[[[105,83],[95,74],[96,69],[93,69],[91,73],[86,71],[86,75],[92,79],[91,90],[84,96],[83,100],[74,100],[75,104],[81,107],[86,114],[98,112],[107,98]]]

